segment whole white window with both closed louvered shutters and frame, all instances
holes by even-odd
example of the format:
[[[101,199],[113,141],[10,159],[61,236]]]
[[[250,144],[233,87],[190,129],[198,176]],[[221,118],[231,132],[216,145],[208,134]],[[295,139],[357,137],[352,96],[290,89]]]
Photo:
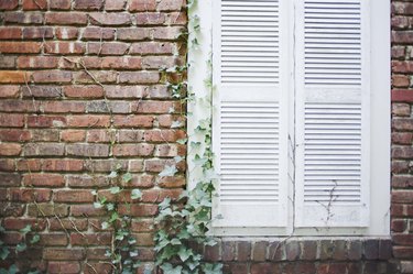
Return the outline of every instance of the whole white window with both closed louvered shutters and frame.
[[[389,234],[389,6],[199,2],[189,83],[211,44],[216,233]]]

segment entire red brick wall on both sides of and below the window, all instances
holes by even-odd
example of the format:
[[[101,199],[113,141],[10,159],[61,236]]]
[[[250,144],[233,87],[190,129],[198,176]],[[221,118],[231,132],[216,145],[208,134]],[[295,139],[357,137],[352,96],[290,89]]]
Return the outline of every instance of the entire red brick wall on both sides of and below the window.
[[[110,238],[90,190],[107,187],[118,164],[143,190],[132,228],[140,259],[152,261],[156,202],[185,185],[182,173],[156,176],[185,154],[176,143],[185,131],[171,129],[181,106],[159,73],[184,62],[182,8],[182,0],[0,0],[2,240],[18,242],[28,223],[41,234],[22,266],[110,271],[99,263]],[[222,239],[206,260],[238,274],[413,273],[413,3],[392,9],[392,241]]]

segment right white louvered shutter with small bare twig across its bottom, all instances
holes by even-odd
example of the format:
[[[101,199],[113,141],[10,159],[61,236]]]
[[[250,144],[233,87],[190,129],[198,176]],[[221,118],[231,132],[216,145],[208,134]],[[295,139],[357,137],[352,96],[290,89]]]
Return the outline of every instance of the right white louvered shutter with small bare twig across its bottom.
[[[296,7],[296,226],[369,223],[368,1]]]

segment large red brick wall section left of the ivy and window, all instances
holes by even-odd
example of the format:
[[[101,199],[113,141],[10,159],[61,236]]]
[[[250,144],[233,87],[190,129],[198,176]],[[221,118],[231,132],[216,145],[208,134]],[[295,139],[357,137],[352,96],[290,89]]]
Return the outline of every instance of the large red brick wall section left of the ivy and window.
[[[37,227],[41,241],[23,255],[42,270],[110,271],[98,263],[110,234],[99,230],[102,211],[90,191],[108,186],[118,164],[143,190],[143,201],[132,207],[132,229],[140,259],[152,261],[156,202],[177,196],[185,184],[182,176],[156,177],[185,154],[175,142],[185,132],[171,130],[181,105],[159,72],[184,63],[183,4],[0,0],[3,240],[15,243],[19,229]]]

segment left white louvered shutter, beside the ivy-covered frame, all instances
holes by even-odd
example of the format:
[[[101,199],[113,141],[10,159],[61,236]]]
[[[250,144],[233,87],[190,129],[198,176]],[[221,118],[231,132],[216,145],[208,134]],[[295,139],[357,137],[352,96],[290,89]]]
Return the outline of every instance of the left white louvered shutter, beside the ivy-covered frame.
[[[286,226],[287,61],[279,0],[214,0],[215,227]],[[286,41],[286,40],[284,40]],[[283,56],[284,52],[284,56]]]

